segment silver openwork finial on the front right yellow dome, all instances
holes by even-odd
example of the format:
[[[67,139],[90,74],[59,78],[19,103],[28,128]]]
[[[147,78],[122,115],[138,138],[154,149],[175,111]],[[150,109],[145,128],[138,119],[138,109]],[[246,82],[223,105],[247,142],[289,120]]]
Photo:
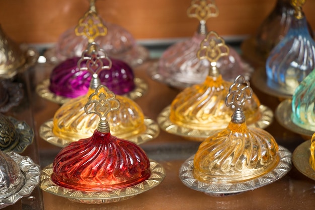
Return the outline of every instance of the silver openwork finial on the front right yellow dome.
[[[252,95],[253,90],[250,87],[250,82],[248,82],[244,76],[239,75],[230,86],[225,99],[226,106],[231,106],[232,108],[235,107],[231,119],[232,122],[237,124],[245,122],[242,106],[247,100],[252,98]]]

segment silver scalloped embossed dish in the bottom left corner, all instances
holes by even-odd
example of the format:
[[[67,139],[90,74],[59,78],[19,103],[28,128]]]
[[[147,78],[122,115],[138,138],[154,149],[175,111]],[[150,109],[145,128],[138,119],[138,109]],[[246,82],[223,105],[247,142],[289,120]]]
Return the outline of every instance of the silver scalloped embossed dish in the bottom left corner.
[[[7,154],[17,163],[23,172],[25,183],[18,192],[13,193],[7,198],[0,199],[0,208],[13,205],[22,197],[29,196],[40,182],[40,167],[30,157],[20,156],[14,152],[8,152]]]

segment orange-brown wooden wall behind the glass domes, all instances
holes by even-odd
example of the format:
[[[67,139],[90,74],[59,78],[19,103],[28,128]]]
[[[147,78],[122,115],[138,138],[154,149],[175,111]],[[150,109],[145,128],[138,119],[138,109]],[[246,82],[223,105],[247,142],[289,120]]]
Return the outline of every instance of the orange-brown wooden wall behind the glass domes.
[[[191,37],[198,26],[188,18],[191,0],[98,0],[98,13],[106,21],[126,28],[137,40]],[[220,14],[207,21],[221,36],[255,34],[276,0],[217,0]],[[76,25],[89,8],[88,0],[0,0],[0,24],[17,42],[53,43]],[[303,7],[315,29],[315,1]]]

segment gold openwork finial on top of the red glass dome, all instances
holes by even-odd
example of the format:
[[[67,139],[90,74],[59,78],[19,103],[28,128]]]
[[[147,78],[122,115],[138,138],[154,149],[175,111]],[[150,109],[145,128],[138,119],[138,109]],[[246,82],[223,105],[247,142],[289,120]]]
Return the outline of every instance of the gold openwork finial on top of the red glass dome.
[[[87,114],[97,114],[101,120],[97,127],[100,132],[109,132],[109,124],[106,120],[108,113],[119,110],[120,102],[116,99],[116,95],[108,90],[104,85],[100,85],[95,92],[89,96],[89,101],[85,105],[84,110]]]

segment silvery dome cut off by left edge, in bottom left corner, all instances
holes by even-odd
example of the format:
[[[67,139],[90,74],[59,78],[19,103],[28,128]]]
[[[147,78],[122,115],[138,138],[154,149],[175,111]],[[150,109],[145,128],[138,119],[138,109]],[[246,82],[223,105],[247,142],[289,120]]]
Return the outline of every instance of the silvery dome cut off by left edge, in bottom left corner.
[[[6,153],[0,151],[0,199],[20,191],[25,178],[17,163]]]

